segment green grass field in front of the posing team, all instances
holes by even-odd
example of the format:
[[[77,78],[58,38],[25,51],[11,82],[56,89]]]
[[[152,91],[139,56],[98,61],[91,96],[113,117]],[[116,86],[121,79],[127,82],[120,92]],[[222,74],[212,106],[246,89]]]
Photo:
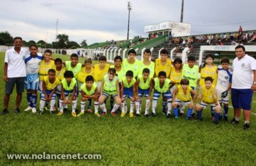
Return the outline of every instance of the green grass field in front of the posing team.
[[[69,59],[65,55],[53,57]],[[0,53],[0,64],[3,61],[4,53]],[[0,80],[3,98],[3,69]],[[254,95],[253,113],[255,101]],[[244,131],[243,116],[239,124],[221,121],[216,126],[209,109],[203,111],[203,122],[167,119],[161,114],[161,102],[154,118],[120,118],[111,113],[100,118],[88,113],[73,118],[70,110],[64,116],[46,111],[41,116],[31,111],[15,114],[14,105],[15,93],[11,95],[10,113],[0,116],[0,165],[256,165],[255,114],[251,129]],[[20,108],[26,107],[24,93]],[[229,119],[232,111],[230,108]],[[8,160],[6,156],[43,152],[101,154],[102,160]]]

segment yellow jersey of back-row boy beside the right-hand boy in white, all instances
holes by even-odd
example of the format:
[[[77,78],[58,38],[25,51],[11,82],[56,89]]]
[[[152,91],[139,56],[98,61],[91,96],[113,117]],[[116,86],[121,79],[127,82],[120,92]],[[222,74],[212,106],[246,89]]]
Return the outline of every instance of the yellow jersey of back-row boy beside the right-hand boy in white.
[[[208,68],[208,66],[205,66],[204,68],[201,68],[201,77],[199,82],[200,86],[205,84],[204,82],[205,77],[212,77],[213,79],[212,84],[216,86],[217,77],[218,77],[217,70],[218,70],[217,66],[212,66],[212,68]]]

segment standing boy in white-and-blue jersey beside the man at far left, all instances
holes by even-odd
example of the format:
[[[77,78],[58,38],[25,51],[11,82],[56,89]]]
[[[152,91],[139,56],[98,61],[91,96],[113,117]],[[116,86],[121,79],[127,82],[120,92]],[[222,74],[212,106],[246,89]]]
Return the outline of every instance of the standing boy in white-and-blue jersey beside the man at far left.
[[[28,108],[24,111],[37,112],[37,89],[39,84],[39,64],[43,59],[43,56],[37,53],[37,46],[35,44],[30,45],[30,53],[25,57],[26,64],[26,80],[25,87],[27,89]]]

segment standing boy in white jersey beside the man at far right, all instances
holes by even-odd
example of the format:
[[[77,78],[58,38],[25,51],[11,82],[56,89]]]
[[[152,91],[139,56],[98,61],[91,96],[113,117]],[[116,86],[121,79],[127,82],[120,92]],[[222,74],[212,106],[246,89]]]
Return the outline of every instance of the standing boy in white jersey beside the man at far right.
[[[228,68],[229,66],[229,59],[227,57],[223,57],[221,59],[221,66],[218,67],[218,80],[217,80],[217,94],[219,98],[219,103],[223,103],[224,109],[224,120],[225,122],[228,121],[228,100],[229,100],[229,93],[228,91],[231,88],[232,83],[232,72]],[[220,119],[222,116],[219,117]]]

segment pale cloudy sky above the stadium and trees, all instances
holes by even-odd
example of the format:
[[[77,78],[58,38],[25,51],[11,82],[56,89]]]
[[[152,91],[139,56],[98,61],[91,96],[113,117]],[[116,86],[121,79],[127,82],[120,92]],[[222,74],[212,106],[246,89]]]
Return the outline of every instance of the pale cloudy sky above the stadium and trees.
[[[147,37],[144,27],[180,21],[181,0],[130,0],[129,38]],[[127,39],[127,0],[0,0],[0,32],[27,42],[55,42],[66,34],[78,44]],[[191,35],[256,30],[255,0],[184,0],[183,22]],[[58,19],[58,24],[56,22]]]

